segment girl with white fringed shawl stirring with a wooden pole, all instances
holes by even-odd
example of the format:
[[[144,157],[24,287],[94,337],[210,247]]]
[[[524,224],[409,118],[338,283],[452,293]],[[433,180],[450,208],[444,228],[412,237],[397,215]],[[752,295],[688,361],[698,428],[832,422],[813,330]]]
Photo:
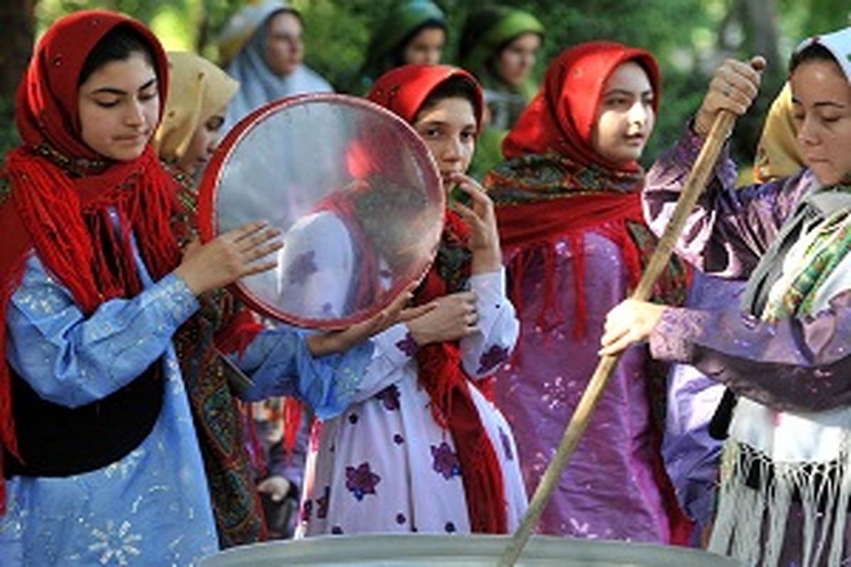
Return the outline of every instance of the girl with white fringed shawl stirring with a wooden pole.
[[[757,61],[754,61],[757,64]],[[764,62],[763,62],[764,64]],[[757,65],[758,66],[758,65]],[[710,549],[745,564],[839,565],[851,558],[851,28],[811,38],[790,65],[807,167],[734,190],[723,158],[679,242],[708,272],[748,276],[740,305],[672,309],[627,301],[607,317],[603,352],[649,339],[739,400],[728,422]],[[670,217],[718,111],[742,114],[759,73],[727,61],[691,128],[648,175],[654,229]]]

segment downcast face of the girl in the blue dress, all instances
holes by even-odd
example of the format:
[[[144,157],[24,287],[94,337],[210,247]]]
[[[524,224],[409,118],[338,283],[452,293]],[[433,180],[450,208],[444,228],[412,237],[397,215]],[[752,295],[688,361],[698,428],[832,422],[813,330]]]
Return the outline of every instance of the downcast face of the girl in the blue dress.
[[[101,156],[128,162],[141,156],[159,122],[157,72],[145,54],[111,61],[77,91],[80,135]]]

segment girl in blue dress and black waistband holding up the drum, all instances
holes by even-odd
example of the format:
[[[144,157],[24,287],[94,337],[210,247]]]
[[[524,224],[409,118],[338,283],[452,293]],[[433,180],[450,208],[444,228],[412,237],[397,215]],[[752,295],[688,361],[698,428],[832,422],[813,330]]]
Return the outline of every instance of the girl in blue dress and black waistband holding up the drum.
[[[167,85],[146,27],[81,11],[44,35],[19,90],[25,145],[0,177],[4,567],[192,564],[219,547],[214,507],[220,528],[256,525],[250,491],[210,499],[244,471],[205,306],[279,245],[255,223],[181,259],[173,180],[149,144]],[[214,345],[244,349],[248,399],[297,394],[331,416],[357,392],[370,348],[313,360],[300,335],[236,323],[218,321]]]

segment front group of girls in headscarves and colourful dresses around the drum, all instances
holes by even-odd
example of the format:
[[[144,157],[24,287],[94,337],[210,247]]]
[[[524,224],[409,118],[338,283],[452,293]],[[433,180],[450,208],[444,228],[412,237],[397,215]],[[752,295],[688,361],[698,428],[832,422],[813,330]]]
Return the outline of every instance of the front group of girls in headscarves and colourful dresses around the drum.
[[[419,286],[325,334],[260,326],[222,289],[274,267],[276,230],[197,241],[189,176],[234,92],[197,65],[188,84],[169,81],[145,26],[83,11],[49,29],[21,84],[24,144],[0,177],[0,564],[193,564],[262,539],[232,366],[254,383],[243,400],[293,395],[323,422],[305,535],[509,532],[598,350],[624,356],[543,532],[686,538],[654,419],[665,381],[653,362],[678,361],[738,395],[711,549],[747,564],[851,557],[851,29],[802,43],[791,62],[806,167],[734,190],[724,156],[694,210],[681,258],[748,279],[740,305],[714,310],[671,306],[687,291],[681,260],[657,303],[622,300],[715,116],[757,94],[759,65],[725,62],[644,176],[654,58],[568,48],[487,191],[465,175],[486,113],[477,80],[444,65],[384,73],[368,98],[411,124],[471,205],[446,211]],[[155,137],[158,126],[174,131]]]

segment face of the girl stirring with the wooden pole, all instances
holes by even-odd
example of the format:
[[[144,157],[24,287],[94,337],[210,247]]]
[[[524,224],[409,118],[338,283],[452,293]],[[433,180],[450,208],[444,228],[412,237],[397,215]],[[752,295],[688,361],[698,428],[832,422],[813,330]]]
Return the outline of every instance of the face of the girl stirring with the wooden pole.
[[[832,61],[809,60],[792,73],[792,116],[804,162],[821,184],[851,174],[851,85]]]

